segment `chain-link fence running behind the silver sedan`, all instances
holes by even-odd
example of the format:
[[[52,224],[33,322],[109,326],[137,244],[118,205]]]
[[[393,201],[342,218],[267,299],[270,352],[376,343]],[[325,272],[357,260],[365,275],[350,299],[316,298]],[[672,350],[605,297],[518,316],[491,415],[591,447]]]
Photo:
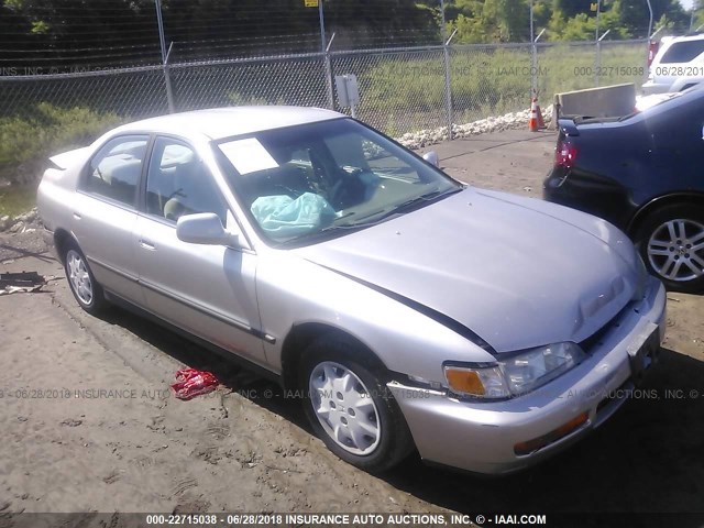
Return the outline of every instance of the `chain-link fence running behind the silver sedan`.
[[[3,75],[0,120],[40,103],[123,121],[163,114],[169,111],[167,79],[176,111],[237,105],[348,111],[338,107],[332,79],[354,74],[358,119],[397,136],[525,110],[531,86],[548,105],[559,91],[645,80],[646,41],[537,44],[535,66],[531,52],[530,44],[428,46]]]

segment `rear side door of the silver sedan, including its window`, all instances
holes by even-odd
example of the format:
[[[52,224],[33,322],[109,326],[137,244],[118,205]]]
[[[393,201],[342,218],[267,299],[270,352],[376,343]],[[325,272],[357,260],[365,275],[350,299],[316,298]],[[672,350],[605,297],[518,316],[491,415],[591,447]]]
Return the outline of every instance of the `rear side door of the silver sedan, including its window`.
[[[148,135],[108,141],[81,175],[72,229],[106,289],[142,304],[134,263],[136,199]]]

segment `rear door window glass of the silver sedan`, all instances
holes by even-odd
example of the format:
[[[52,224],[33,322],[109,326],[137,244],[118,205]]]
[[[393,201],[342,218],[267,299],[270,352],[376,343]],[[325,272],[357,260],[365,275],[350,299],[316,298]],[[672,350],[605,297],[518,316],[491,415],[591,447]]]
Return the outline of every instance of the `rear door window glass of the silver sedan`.
[[[84,190],[134,207],[147,143],[145,135],[109,141],[91,160]]]

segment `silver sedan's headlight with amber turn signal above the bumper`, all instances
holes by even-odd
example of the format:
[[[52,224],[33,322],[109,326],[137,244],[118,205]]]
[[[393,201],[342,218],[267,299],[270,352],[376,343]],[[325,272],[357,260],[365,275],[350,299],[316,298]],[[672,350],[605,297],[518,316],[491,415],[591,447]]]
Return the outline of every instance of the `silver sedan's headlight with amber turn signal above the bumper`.
[[[448,387],[460,396],[502,399],[529,393],[580,364],[585,354],[571,342],[501,358],[492,365],[444,364]]]

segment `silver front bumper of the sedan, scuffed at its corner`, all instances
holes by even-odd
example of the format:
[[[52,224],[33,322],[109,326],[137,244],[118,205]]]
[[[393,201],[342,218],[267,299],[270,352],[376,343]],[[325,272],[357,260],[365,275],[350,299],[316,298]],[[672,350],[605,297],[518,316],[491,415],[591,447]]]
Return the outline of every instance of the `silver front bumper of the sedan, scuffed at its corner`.
[[[646,297],[612,321],[585,361],[532,393],[474,403],[398,382],[388,388],[424,460],[479,473],[510,473],[554,454],[609,418],[648,366],[635,349],[642,349],[644,336],[650,333],[659,349],[664,321],[666,292],[650,277]],[[538,439],[544,441],[528,454],[517,448]]]

